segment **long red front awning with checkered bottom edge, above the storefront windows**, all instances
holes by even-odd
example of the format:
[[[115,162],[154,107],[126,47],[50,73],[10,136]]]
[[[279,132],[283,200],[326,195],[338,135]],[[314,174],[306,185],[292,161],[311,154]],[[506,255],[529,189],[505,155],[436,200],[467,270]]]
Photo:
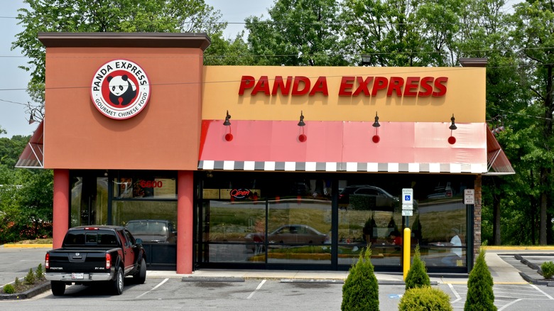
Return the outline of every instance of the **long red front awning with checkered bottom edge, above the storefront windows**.
[[[202,121],[200,170],[487,173],[487,124]],[[225,139],[228,133],[232,140]],[[306,140],[300,141],[300,134]],[[378,143],[372,141],[378,135]],[[494,137],[493,137],[494,138]]]

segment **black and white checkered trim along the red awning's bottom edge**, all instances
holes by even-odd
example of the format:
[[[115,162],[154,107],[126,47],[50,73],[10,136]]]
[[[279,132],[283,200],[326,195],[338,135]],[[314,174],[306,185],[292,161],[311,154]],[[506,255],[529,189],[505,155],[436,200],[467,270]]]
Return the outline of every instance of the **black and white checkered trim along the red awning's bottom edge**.
[[[389,173],[474,173],[487,172],[487,164],[460,163],[359,163],[359,162],[273,162],[200,160],[199,170],[264,170],[290,172],[389,172]]]

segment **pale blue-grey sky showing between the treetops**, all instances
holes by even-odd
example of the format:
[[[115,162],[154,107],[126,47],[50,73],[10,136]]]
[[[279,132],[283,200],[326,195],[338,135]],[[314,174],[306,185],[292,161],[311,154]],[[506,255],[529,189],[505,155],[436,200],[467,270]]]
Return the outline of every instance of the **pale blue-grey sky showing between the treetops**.
[[[519,0],[506,1],[506,7]],[[206,4],[222,13],[222,21],[227,21],[225,38],[234,38],[244,29],[244,19],[249,16],[268,16],[267,10],[273,6],[274,0],[205,0]],[[31,135],[38,126],[28,124],[29,112],[26,104],[32,102],[26,92],[30,80],[28,72],[18,68],[26,65],[28,58],[21,55],[21,50],[11,50],[15,36],[23,31],[16,19],[18,9],[23,7],[21,0],[0,0],[0,127],[7,134],[0,137],[15,135]]]

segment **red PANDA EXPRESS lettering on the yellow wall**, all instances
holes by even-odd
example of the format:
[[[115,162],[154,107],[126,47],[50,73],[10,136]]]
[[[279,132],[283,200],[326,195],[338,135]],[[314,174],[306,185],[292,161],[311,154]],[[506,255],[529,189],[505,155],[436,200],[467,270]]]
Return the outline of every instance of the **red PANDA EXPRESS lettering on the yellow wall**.
[[[313,81],[315,80],[315,81]],[[303,76],[268,76],[256,78],[244,75],[241,78],[239,95],[246,92],[250,95],[292,95],[308,94],[329,95],[327,77],[320,76],[310,80]],[[398,97],[442,97],[446,94],[448,77],[342,77],[339,87],[339,96],[377,96],[386,93],[386,96]]]

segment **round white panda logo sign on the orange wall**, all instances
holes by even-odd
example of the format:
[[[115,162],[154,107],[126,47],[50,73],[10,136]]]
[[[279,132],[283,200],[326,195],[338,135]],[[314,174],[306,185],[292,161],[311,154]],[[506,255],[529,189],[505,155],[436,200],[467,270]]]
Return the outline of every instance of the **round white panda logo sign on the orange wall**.
[[[146,72],[130,60],[112,60],[92,77],[90,96],[94,107],[112,119],[129,119],[146,107],[150,81]]]

